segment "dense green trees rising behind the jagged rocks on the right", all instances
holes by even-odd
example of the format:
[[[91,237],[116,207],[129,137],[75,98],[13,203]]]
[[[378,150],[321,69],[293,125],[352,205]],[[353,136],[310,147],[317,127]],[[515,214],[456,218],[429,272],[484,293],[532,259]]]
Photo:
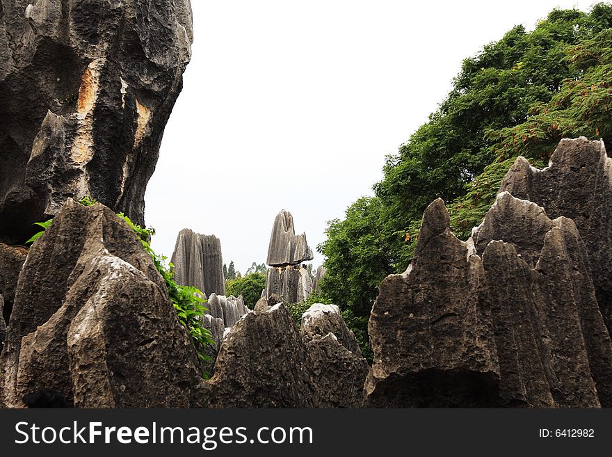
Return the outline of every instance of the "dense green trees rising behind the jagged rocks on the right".
[[[516,26],[465,59],[440,108],[387,157],[376,196],[328,223],[318,246],[327,257],[323,294],[366,317],[380,281],[410,263],[435,198],[465,239],[518,155],[543,165],[568,136],[612,144],[611,27],[606,3],[590,13],[554,10],[533,31]]]

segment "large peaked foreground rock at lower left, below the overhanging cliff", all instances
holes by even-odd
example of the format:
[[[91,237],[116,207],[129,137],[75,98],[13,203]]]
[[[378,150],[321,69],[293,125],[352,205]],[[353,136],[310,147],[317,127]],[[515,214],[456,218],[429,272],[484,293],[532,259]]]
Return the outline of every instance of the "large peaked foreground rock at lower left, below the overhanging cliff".
[[[51,390],[67,406],[185,407],[198,367],[134,231],[103,205],[68,200],[19,275],[0,355],[3,406]]]

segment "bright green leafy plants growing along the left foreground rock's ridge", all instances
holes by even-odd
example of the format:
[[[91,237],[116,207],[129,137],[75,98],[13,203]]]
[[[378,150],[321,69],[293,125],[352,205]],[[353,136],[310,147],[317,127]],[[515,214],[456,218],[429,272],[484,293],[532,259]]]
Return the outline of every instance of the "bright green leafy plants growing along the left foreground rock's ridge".
[[[97,203],[97,200],[86,196],[81,198],[79,203],[85,207],[91,207]],[[214,342],[214,339],[212,339],[210,330],[202,327],[204,312],[207,311],[207,308],[203,305],[206,303],[206,300],[202,298],[204,294],[202,294],[202,292],[195,287],[182,286],[175,282],[173,273],[174,265],[172,262],[166,266],[166,260],[168,257],[156,254],[150,246],[151,237],[155,234],[154,228],[140,227],[140,225],[134,224],[130,218],[123,213],[119,213],[117,216],[122,218],[125,223],[129,225],[131,230],[134,230],[136,235],[138,235],[140,243],[143,244],[143,248],[145,248],[147,253],[151,256],[155,268],[157,268],[157,271],[159,271],[159,274],[161,274],[164,282],[166,282],[166,288],[168,289],[170,301],[175,307],[179,322],[187,329],[189,336],[191,337],[195,350],[198,353],[198,358],[200,358],[201,362],[209,362],[211,359],[206,354],[205,348],[209,344],[216,343]],[[49,221],[46,222],[36,223],[36,225],[40,225],[40,227],[42,227],[42,230],[26,241],[26,244],[33,243],[39,239],[40,236],[45,233],[47,227],[51,225],[51,222],[53,222],[53,219],[49,219]],[[204,372],[202,373],[202,376],[204,378],[208,378],[209,374]]]

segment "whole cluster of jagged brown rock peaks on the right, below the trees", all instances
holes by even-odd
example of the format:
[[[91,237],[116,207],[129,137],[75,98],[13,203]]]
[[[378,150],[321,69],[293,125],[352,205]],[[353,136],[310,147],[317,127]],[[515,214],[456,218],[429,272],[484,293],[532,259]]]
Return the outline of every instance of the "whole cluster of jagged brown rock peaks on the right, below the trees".
[[[586,138],[517,159],[466,242],[433,202],[371,312],[369,404],[612,406],[611,166]]]

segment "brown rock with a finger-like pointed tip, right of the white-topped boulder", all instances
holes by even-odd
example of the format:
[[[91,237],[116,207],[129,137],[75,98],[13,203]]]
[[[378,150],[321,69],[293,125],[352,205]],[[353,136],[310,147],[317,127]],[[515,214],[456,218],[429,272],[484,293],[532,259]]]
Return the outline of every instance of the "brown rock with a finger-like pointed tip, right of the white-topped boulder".
[[[426,209],[412,264],[382,284],[368,325],[366,380],[375,407],[499,405],[499,364],[481,258],[449,229],[437,199]]]

